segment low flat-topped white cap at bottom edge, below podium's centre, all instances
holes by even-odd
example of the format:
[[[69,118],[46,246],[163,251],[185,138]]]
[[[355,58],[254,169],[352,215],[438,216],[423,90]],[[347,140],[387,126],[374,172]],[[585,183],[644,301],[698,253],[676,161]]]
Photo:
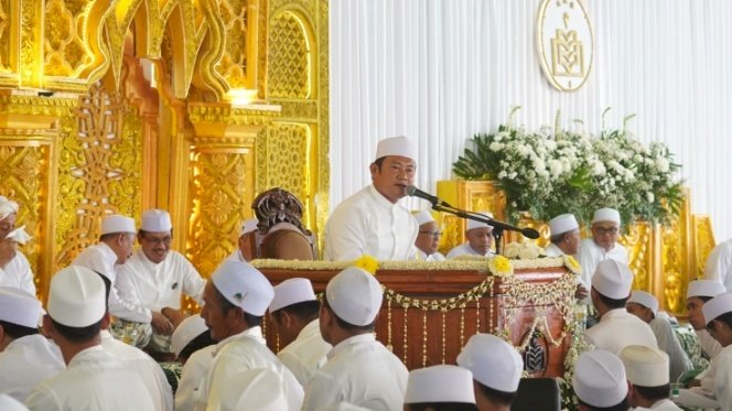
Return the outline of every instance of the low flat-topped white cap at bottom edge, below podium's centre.
[[[475,403],[473,375],[455,366],[433,366],[409,371],[405,403],[466,402]]]

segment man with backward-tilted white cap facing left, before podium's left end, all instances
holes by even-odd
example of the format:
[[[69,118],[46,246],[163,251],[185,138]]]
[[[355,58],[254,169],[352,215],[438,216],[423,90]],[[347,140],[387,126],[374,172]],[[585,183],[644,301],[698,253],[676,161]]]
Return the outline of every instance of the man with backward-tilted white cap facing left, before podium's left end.
[[[246,262],[225,260],[211,275],[203,292],[201,316],[219,343],[208,377],[198,390],[198,402],[204,408],[217,409],[228,401],[223,387],[237,374],[268,368],[279,376],[288,409],[300,409],[302,386],[267,348],[261,334],[260,324],[273,296],[265,275]]]

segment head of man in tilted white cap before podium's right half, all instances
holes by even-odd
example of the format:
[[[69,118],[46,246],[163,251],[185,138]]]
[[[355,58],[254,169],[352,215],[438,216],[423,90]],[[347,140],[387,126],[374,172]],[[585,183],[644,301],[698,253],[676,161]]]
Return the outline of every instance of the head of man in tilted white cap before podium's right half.
[[[473,372],[478,410],[510,410],[524,370],[516,348],[495,335],[475,334],[458,356],[458,365]]]

